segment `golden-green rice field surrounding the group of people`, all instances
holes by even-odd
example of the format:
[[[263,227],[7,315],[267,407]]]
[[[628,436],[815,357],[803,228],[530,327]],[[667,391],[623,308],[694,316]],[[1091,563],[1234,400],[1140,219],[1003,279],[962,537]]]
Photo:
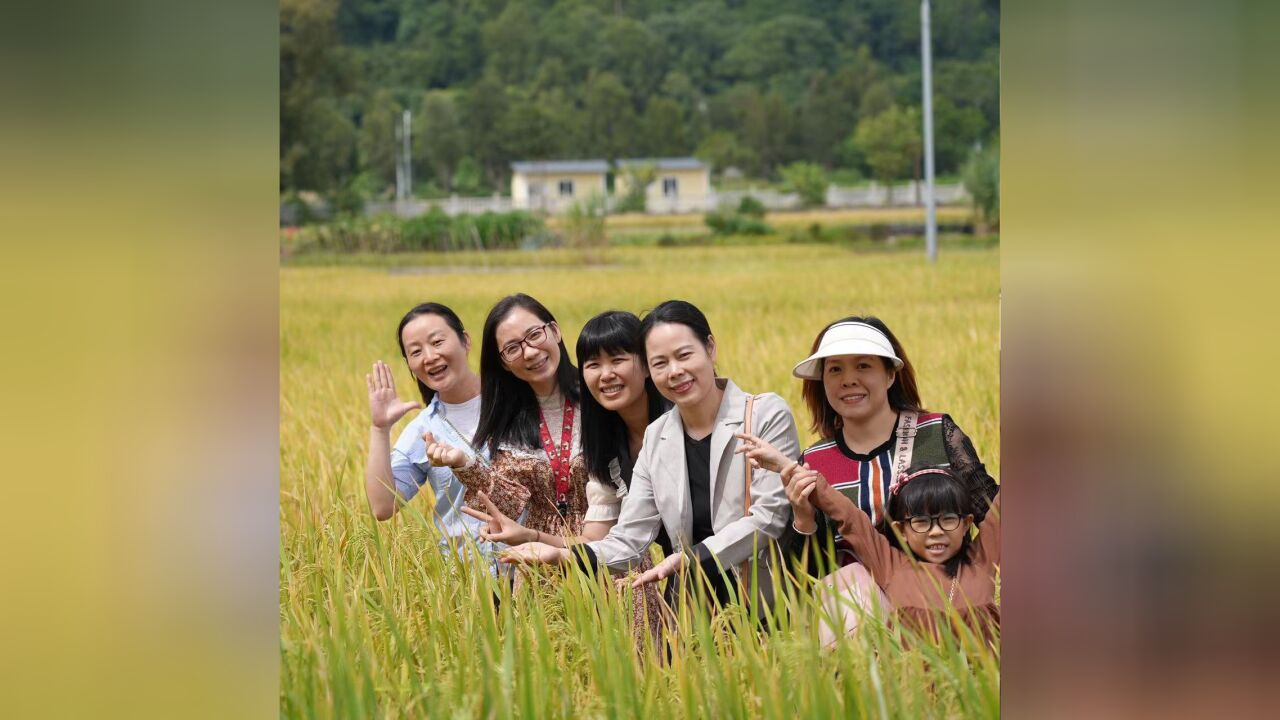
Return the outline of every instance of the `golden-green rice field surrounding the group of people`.
[[[791,366],[826,323],[878,315],[906,346],[925,405],[951,413],[998,478],[998,252],[948,252],[933,268],[915,254],[803,245],[620,247],[595,266],[556,252],[280,270],[282,716],[998,716],[998,661],[972,637],[932,642],[868,620],[824,653],[801,582],[769,632],[742,609],[691,614],[669,651],[637,653],[628,592],[570,573],[511,594],[442,557],[420,500],[376,523],[364,495],[364,375],[381,359],[402,397],[413,387],[394,338],[401,315],[436,300],[479,333],[493,301],[516,291],[557,315],[570,348],[599,311],[696,304],[719,373],[785,397],[805,443],[817,438]]]

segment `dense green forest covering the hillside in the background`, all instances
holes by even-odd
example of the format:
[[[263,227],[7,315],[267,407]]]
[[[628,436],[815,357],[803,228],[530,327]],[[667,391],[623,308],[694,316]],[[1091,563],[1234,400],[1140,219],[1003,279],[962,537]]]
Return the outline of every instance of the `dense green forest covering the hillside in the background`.
[[[937,169],[1000,127],[998,0],[933,3]],[[512,160],[919,167],[919,0],[282,0],[280,188],[506,192]],[[899,149],[908,161],[888,158]]]

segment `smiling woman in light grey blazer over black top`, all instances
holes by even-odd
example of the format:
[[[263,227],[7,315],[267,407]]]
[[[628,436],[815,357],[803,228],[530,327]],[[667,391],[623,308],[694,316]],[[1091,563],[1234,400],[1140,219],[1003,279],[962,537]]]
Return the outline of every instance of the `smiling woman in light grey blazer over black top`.
[[[736,452],[748,393],[732,380],[716,377],[716,338],[705,315],[682,300],[668,300],[645,315],[641,324],[645,363],[654,384],[675,407],[645,430],[644,445],[622,501],[618,521],[603,539],[581,546],[586,565],[628,570],[640,564],[649,544],[666,529],[676,552],[639,575],[643,587],[682,569],[700,565],[717,596],[727,594],[726,571],[744,562],[755,566],[765,600],[771,546],[782,536],[791,507],[777,473],[750,473],[746,509],[746,466]],[[786,401],[774,393],[754,398],[751,432],[791,457],[800,441]],[[527,543],[513,548],[504,562],[564,562],[566,548]]]

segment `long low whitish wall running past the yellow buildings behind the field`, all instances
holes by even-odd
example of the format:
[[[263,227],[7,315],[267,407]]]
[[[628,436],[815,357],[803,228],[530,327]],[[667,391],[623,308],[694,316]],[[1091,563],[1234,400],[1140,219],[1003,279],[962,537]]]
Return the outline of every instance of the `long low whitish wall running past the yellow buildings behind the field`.
[[[916,183],[909,182],[892,186],[872,183],[867,187],[837,187],[827,188],[827,208],[911,208],[918,205],[916,197],[923,200],[924,191],[920,183],[919,195]],[[684,197],[649,197],[645,211],[650,215],[666,215],[680,213],[705,213],[718,208],[737,208],[742,197],[751,196],[764,205],[765,210],[799,210],[803,206],[800,196],[795,192],[780,192],[771,188],[724,190],[712,191],[708,195]],[[968,202],[969,193],[964,186],[937,184],[934,196],[938,205],[954,205]],[[580,199],[572,197],[539,197],[532,202],[513,202],[511,197],[493,195],[490,197],[444,197],[440,200],[403,200],[398,202],[366,202],[365,213],[370,215],[396,214],[402,218],[412,218],[428,213],[431,208],[439,208],[447,215],[466,215],[479,213],[507,213],[511,210],[544,210],[548,213],[563,213]],[[609,197],[608,208],[613,210],[620,199]]]

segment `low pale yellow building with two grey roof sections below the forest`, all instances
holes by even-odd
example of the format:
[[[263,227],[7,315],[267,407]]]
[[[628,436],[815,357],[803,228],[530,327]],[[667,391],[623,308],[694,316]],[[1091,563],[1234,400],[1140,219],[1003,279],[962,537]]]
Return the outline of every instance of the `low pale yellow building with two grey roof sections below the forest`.
[[[618,160],[613,173],[613,201],[628,192],[631,173],[636,170],[653,172],[653,181],[645,187],[648,213],[699,213],[716,205],[710,168],[696,158]],[[607,197],[609,172],[605,160],[512,163],[512,208],[562,213],[593,193]]]

